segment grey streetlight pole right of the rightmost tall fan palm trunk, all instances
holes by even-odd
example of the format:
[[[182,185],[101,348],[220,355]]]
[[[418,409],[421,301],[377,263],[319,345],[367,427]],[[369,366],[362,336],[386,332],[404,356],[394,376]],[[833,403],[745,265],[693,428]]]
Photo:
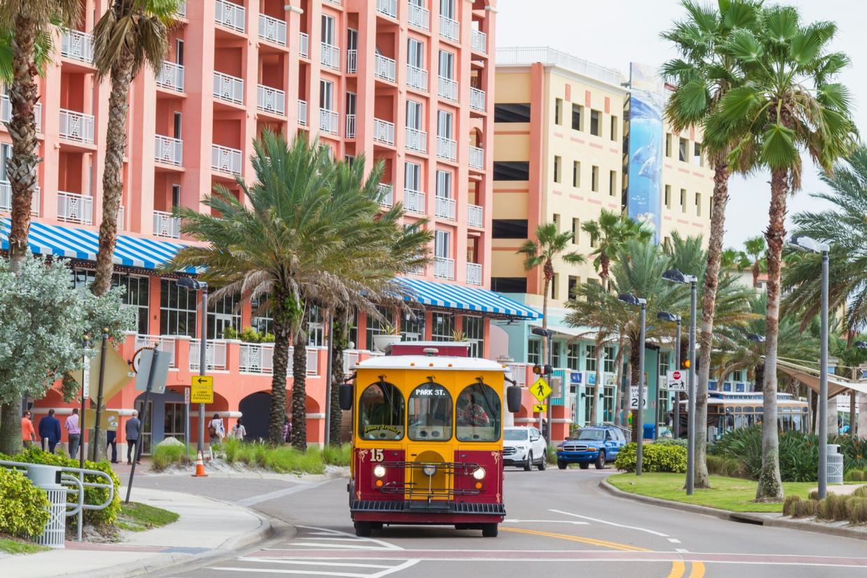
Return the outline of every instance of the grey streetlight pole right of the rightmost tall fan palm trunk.
[[[824,499],[828,490],[828,251],[826,243],[819,243],[805,235],[789,239],[792,249],[822,256],[822,308],[818,360],[818,499]]]

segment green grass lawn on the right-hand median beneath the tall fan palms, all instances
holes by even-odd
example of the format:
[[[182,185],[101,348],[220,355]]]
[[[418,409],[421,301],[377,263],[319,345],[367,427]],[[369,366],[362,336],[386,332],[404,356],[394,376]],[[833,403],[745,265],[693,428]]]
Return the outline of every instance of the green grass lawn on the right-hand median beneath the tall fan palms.
[[[783,503],[753,503],[756,495],[756,483],[739,477],[710,477],[710,490],[695,489],[692,496],[687,496],[683,490],[684,475],[672,473],[644,473],[641,477],[634,473],[616,474],[608,481],[618,490],[630,494],[658,497],[674,502],[694,503],[720,510],[733,512],[782,512]],[[815,482],[786,482],[783,488],[786,496],[798,495],[807,497],[810,490],[816,487]]]

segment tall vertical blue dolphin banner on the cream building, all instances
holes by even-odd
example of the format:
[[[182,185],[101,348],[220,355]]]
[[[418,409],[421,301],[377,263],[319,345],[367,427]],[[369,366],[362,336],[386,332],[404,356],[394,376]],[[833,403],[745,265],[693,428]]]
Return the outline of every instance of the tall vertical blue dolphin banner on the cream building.
[[[653,228],[659,243],[662,205],[662,107],[664,96],[656,71],[629,63],[629,217]]]

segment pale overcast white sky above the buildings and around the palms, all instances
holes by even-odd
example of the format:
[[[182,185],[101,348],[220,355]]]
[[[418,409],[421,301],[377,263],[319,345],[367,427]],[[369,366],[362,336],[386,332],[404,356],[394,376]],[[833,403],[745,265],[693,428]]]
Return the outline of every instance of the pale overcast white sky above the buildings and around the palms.
[[[707,1],[707,0],[706,0]],[[839,81],[851,91],[856,124],[867,131],[867,36],[864,22],[867,4],[854,0],[788,0],[798,6],[804,21],[831,20],[838,36],[831,49],[847,53],[852,65]],[[629,62],[658,66],[676,55],[673,45],[659,34],[684,16],[679,0],[499,0],[497,46],[550,46],[628,75]],[[857,75],[860,71],[861,75]],[[761,235],[767,226],[771,201],[770,175],[733,177],[726,211],[727,247],[742,249],[744,240]],[[821,211],[829,205],[811,198],[827,186],[805,159],[803,188],[789,199],[789,215]]]

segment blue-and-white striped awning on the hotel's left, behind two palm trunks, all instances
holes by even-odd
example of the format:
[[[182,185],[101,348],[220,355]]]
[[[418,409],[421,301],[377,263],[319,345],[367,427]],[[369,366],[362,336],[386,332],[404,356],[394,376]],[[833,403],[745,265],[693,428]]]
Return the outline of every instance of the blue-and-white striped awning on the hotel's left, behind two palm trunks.
[[[0,247],[9,250],[10,219],[0,219]],[[82,261],[95,261],[99,250],[99,231],[44,224],[30,224],[27,239],[30,250],[37,255],[55,255]],[[185,245],[169,241],[156,241],[145,237],[118,235],[114,247],[114,264],[141,269],[157,269],[167,263]],[[194,268],[186,273],[195,273]]]

